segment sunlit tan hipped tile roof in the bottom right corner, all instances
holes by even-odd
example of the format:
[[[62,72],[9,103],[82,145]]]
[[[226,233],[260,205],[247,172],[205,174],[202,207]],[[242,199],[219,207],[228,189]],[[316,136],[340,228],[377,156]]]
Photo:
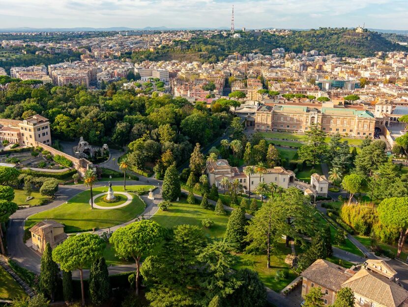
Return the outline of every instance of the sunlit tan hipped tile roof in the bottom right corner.
[[[342,287],[349,287],[354,293],[385,307],[398,307],[408,298],[408,291],[397,283],[365,268],[344,282]]]

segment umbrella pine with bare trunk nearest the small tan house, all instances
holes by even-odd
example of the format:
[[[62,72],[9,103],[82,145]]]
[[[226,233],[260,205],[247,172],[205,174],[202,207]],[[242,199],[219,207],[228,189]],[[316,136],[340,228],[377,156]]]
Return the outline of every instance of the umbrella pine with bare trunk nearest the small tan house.
[[[88,267],[96,258],[101,257],[105,247],[106,243],[97,234],[86,232],[68,237],[53,251],[53,260],[59,263],[61,270],[79,270],[82,306],[85,306],[83,269]]]

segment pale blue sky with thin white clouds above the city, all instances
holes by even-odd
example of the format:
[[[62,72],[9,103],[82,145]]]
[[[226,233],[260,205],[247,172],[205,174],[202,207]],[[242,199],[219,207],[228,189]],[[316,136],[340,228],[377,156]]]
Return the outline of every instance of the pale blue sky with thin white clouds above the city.
[[[408,30],[408,0],[0,0],[0,28],[349,27]]]

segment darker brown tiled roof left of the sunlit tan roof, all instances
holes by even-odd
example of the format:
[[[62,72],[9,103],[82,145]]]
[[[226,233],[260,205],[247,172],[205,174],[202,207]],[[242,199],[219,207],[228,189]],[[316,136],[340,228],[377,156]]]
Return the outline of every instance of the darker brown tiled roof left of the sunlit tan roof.
[[[346,269],[323,259],[316,260],[303,271],[301,276],[321,285],[324,288],[339,291],[342,284],[350,278]]]

